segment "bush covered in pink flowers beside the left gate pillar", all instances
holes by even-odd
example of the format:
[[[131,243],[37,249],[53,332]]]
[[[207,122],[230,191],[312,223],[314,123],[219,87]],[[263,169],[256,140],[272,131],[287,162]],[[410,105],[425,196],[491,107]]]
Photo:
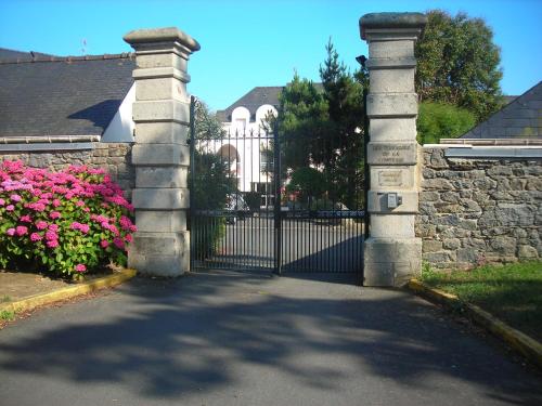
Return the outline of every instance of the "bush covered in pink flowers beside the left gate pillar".
[[[0,165],[0,267],[36,265],[57,276],[126,264],[133,207],[101,169],[60,172]]]

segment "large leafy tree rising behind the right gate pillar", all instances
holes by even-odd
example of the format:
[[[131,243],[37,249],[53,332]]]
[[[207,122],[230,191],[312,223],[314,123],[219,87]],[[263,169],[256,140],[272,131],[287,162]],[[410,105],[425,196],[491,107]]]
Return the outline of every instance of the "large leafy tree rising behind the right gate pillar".
[[[428,23],[416,42],[416,92],[422,101],[466,108],[482,121],[502,107],[500,49],[481,18],[465,13],[427,12]]]

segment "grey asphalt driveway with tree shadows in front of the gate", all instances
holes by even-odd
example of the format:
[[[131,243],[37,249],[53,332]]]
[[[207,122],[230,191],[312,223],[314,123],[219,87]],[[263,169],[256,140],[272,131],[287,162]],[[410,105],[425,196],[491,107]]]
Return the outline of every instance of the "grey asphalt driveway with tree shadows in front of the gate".
[[[136,279],[0,331],[2,406],[542,404],[539,378],[402,291]]]

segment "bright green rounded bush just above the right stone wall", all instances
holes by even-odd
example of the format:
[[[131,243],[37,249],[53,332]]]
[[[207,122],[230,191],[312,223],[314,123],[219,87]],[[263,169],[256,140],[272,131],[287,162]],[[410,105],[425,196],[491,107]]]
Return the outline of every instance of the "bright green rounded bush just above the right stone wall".
[[[417,117],[417,142],[438,144],[440,139],[463,135],[476,123],[476,117],[467,109],[451,104],[424,102]]]

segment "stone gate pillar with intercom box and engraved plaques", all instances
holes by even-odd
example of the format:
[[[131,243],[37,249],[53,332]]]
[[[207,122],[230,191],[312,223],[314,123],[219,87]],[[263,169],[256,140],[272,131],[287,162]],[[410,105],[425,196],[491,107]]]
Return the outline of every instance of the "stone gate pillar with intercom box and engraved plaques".
[[[372,13],[360,18],[370,71],[371,228],[364,245],[365,286],[400,286],[422,266],[422,240],[414,234],[418,209],[414,42],[426,22],[421,13]]]

